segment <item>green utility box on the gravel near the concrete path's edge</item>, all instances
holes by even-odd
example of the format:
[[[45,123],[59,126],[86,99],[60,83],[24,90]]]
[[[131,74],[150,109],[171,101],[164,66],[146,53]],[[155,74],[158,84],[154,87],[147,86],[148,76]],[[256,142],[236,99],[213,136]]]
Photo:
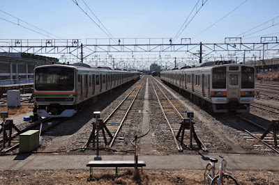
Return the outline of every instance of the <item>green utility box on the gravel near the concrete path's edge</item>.
[[[20,153],[31,152],[39,146],[39,131],[29,130],[20,134]]]

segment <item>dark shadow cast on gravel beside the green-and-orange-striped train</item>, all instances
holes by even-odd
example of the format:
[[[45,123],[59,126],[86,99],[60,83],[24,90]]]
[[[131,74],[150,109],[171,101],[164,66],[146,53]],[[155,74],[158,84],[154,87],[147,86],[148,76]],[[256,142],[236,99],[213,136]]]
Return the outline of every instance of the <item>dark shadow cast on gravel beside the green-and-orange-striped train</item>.
[[[82,106],[82,111],[76,113],[72,118],[59,124],[55,127],[54,131],[51,133],[45,133],[45,136],[67,136],[75,134],[80,130],[87,122],[93,119],[94,111],[102,111],[104,108],[109,106],[115,99],[126,92],[131,86],[133,86],[137,81],[131,81],[123,86],[114,88],[112,93],[107,92],[98,96],[98,102],[96,103],[86,103]]]

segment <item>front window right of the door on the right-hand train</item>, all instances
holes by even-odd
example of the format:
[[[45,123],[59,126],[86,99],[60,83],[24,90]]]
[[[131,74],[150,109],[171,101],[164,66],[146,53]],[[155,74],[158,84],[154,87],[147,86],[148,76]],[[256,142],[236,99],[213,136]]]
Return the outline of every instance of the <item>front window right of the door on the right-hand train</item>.
[[[241,88],[255,88],[255,69],[253,67],[241,67]]]

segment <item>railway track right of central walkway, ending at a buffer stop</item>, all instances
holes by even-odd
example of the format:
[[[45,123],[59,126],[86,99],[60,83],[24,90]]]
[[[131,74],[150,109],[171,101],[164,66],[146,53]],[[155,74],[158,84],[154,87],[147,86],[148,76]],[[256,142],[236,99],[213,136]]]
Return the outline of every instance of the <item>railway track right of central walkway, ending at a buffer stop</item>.
[[[154,93],[156,94],[158,103],[160,105],[160,110],[162,111],[164,118],[167,122],[169,130],[171,131],[172,138],[176,145],[177,150],[183,151],[183,145],[181,143],[188,142],[192,140],[190,130],[186,130],[186,137],[179,141],[177,139],[177,133],[179,132],[180,123],[177,123],[177,117],[181,120],[181,122],[186,118],[186,113],[180,113],[180,111],[184,111],[183,105],[179,103],[177,99],[172,99],[172,101],[167,97],[167,95],[163,92],[162,88],[158,85],[158,81],[152,78],[151,85]],[[176,108],[177,107],[177,108]],[[180,110],[179,110],[180,109]],[[184,115],[184,116],[183,116]],[[185,134],[183,133],[183,136]],[[203,150],[206,151],[206,147],[202,144]]]

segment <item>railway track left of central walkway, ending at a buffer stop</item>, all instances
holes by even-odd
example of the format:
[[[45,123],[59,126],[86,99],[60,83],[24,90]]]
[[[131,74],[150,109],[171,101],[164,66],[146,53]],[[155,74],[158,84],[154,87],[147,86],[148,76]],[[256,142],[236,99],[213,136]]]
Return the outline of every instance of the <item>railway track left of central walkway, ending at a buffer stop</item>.
[[[131,124],[131,120],[128,119],[128,114],[131,111],[133,104],[135,103],[135,99],[137,99],[137,95],[140,93],[142,86],[144,86],[146,79],[142,79],[139,81],[135,87],[130,90],[130,93],[126,95],[126,97],[121,101],[120,104],[114,108],[114,110],[107,116],[107,118],[103,119],[107,129],[112,134],[112,139],[109,143],[105,142],[105,138],[110,138],[110,135],[105,133],[105,138],[101,136],[99,133],[99,147],[112,147],[113,145],[123,146],[125,143],[124,134],[121,135],[121,129],[123,127],[127,127],[129,129],[129,124]],[[127,130],[126,130],[127,131]],[[129,131],[128,131],[129,133]],[[95,137],[97,136],[97,131],[95,131]],[[90,140],[88,140],[85,147],[89,147]]]

